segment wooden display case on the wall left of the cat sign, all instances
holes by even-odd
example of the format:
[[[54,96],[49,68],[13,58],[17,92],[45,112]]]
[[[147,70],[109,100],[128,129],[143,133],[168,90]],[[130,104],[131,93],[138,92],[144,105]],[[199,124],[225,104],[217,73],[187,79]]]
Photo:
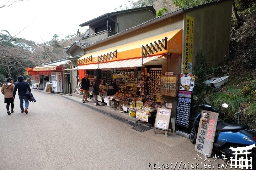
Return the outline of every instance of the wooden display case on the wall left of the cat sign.
[[[176,97],[177,93],[177,76],[161,75],[161,95]]]

